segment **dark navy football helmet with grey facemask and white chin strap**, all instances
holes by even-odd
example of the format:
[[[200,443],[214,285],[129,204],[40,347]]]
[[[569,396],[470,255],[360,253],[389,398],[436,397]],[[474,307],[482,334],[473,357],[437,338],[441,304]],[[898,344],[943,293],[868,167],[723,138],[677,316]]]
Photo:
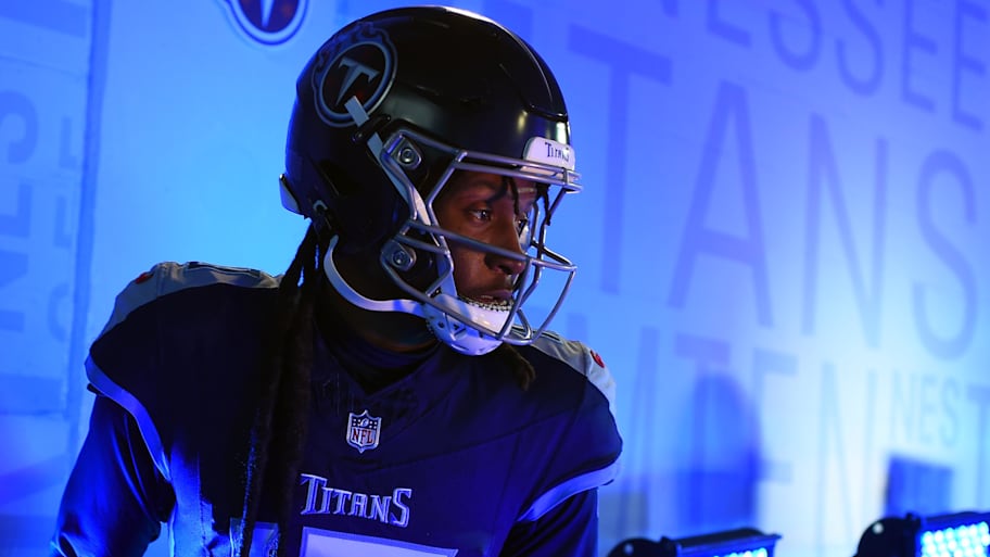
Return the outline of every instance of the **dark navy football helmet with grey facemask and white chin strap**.
[[[563,194],[580,187],[563,97],[526,42],[462,10],[389,10],[323,43],[296,92],[282,202],[329,230],[323,268],[346,300],[421,316],[465,354],[526,344],[543,332],[575,271],[547,248],[547,227]],[[545,185],[520,241],[524,254],[440,226],[433,202],[458,170]],[[493,306],[459,296],[450,241],[525,263],[512,299]],[[367,298],[338,271],[335,251],[368,250],[407,298]],[[556,302],[530,322],[523,305],[547,271],[563,274]]]

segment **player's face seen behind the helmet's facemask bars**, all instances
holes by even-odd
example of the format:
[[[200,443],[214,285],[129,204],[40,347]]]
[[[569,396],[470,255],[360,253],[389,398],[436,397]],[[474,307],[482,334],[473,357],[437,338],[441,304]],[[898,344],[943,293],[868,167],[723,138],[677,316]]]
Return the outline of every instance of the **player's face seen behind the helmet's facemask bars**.
[[[433,203],[440,226],[473,240],[522,254],[520,231],[536,202],[534,182],[462,172]],[[525,263],[450,241],[457,292],[487,304],[507,303]]]

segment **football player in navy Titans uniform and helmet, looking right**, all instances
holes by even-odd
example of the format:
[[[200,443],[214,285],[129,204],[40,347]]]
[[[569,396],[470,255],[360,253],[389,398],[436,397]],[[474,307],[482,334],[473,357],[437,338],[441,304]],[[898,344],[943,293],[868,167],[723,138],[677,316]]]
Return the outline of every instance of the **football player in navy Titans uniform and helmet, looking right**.
[[[547,330],[580,189],[549,67],[491,20],[402,8],[296,91],[294,261],[162,263],[119,294],[53,554],[141,555],[166,522],[175,555],[596,555],[621,439],[601,359]]]

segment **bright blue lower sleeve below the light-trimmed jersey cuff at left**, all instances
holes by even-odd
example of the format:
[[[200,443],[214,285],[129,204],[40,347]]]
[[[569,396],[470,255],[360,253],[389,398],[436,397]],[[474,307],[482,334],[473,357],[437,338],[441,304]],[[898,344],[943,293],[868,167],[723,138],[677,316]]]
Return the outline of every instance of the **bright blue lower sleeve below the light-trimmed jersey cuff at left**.
[[[98,396],[62,495],[51,555],[143,555],[174,503],[134,417]]]

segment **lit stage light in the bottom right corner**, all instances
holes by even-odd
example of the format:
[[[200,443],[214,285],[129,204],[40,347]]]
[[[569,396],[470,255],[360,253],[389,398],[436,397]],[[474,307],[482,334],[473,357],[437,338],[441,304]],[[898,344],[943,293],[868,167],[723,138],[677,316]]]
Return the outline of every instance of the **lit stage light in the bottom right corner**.
[[[990,512],[887,517],[870,524],[855,557],[988,557]]]

